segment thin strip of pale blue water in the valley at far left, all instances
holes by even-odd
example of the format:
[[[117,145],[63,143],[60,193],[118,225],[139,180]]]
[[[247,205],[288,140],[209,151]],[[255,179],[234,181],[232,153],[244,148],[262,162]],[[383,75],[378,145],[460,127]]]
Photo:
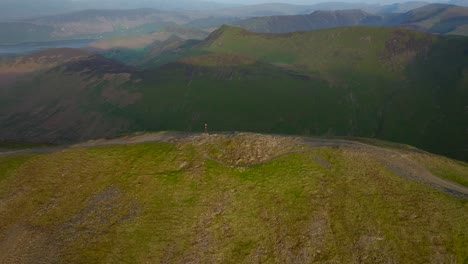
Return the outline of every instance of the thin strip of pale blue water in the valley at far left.
[[[61,40],[51,42],[0,45],[0,54],[24,54],[52,48],[84,48],[94,40]]]

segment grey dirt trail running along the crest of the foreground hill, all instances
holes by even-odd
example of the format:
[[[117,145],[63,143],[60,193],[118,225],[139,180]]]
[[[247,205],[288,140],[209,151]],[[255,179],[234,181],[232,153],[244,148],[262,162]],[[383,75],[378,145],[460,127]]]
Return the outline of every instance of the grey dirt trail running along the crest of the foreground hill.
[[[219,135],[219,134],[218,134]],[[233,133],[225,133],[224,135],[235,135]],[[252,134],[254,135],[254,134]],[[37,149],[25,149],[17,151],[7,151],[0,152],[1,156],[9,155],[20,155],[20,154],[36,154],[36,153],[50,153],[56,151],[62,151],[66,149],[74,148],[87,148],[87,147],[96,147],[96,146],[110,146],[110,145],[128,145],[128,144],[138,144],[144,142],[175,142],[180,139],[184,139],[184,142],[196,142],[207,135],[200,133],[185,133],[185,132],[160,132],[160,133],[147,133],[147,134],[138,134],[125,136],[116,139],[100,139],[87,141],[80,144],[60,146],[60,147],[49,147],[49,148],[37,148]],[[299,144],[303,144],[309,147],[338,147],[338,148],[350,148],[358,151],[363,151],[371,154],[376,160],[381,162],[388,170],[393,173],[400,175],[403,178],[412,181],[418,181],[432,186],[438,190],[449,193],[453,196],[468,199],[468,188],[451,182],[448,180],[441,179],[437,176],[434,176],[430,173],[424,166],[418,162],[411,160],[406,154],[405,151],[384,148],[374,145],[369,145],[362,142],[343,140],[343,139],[323,139],[323,138],[307,138],[307,137],[297,137],[297,136],[285,136],[291,139],[299,140]],[[269,160],[255,163],[254,165],[259,165],[271,161],[272,159],[279,158],[281,156],[296,153],[297,150],[292,150],[286,153],[282,153],[279,156],[272,157]],[[230,164],[225,164],[222,161],[216,160],[212,157],[206,156],[205,158],[212,160],[214,162],[220,163],[226,166],[232,166]],[[239,167],[251,167],[252,165],[245,165]]]

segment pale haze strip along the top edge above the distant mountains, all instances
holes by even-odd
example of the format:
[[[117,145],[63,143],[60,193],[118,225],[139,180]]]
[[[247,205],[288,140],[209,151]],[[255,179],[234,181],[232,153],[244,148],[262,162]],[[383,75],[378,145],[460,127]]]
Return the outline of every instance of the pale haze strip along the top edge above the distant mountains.
[[[138,1],[89,1],[89,0],[4,0],[0,10],[0,22],[18,19],[35,18],[55,15],[66,12],[82,11],[87,9],[140,9],[154,8],[171,11],[202,11],[227,14],[234,16],[260,16],[260,15],[291,15],[305,14],[316,10],[362,9],[367,12],[393,13],[406,12],[421,7],[433,1],[376,1],[363,3],[361,1],[346,2],[294,2],[285,1],[284,4],[269,3],[267,1],[215,2],[203,0],[138,0]],[[451,0],[443,2],[459,6],[468,6],[466,0]]]

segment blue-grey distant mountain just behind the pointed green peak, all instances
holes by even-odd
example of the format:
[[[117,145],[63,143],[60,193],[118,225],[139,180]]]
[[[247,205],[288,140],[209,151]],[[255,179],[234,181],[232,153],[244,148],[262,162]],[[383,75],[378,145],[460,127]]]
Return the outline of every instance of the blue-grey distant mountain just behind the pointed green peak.
[[[309,15],[256,17],[234,23],[249,31],[287,33],[356,25],[381,24],[381,16],[361,10],[316,11]]]

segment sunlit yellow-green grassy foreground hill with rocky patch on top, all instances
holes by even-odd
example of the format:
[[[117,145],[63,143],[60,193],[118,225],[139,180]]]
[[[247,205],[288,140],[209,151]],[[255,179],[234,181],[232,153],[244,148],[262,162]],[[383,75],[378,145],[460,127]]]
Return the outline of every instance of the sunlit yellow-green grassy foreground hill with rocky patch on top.
[[[405,178],[427,162],[466,181],[467,164],[273,136],[155,138],[0,156],[0,262],[468,259],[466,199]]]

